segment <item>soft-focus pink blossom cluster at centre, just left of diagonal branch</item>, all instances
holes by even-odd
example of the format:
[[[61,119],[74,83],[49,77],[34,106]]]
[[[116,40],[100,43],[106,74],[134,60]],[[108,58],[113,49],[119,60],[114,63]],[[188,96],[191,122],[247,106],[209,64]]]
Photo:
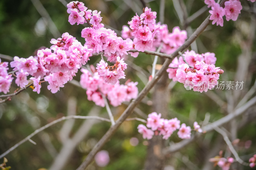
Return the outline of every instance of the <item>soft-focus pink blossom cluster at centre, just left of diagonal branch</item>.
[[[83,74],[81,75],[80,84],[86,89],[88,100],[95,102],[96,105],[105,106],[103,97],[108,98],[111,105],[118,106],[138,96],[138,88],[136,87],[138,82],[126,81],[125,85],[120,85],[118,81],[112,85],[106,83],[98,72],[91,73],[84,68],[81,69],[81,72]]]

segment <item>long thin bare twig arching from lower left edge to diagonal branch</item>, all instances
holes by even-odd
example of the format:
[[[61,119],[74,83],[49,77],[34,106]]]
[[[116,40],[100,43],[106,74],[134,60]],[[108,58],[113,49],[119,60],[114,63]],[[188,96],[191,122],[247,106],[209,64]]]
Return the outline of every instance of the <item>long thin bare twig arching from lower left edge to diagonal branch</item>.
[[[35,136],[36,134],[38,134],[39,132],[43,131],[46,128],[51,127],[52,125],[55,125],[56,123],[59,123],[63,120],[68,120],[68,119],[97,119],[97,120],[102,120],[102,121],[107,121],[110,122],[109,119],[106,118],[102,118],[102,117],[98,117],[98,116],[76,116],[76,115],[70,115],[70,116],[63,116],[60,119],[54,120],[51,123],[48,123],[46,125],[44,125],[43,127],[36,129],[33,133],[31,133],[30,135],[28,135],[26,138],[24,138],[23,140],[21,140],[19,143],[16,143],[14,146],[12,146],[10,149],[8,149],[7,151],[5,151],[3,154],[0,155],[0,159],[4,158],[4,156],[6,156],[8,153],[10,153],[11,151],[13,151],[14,149],[16,149],[17,147],[19,147],[22,143],[28,141],[31,137]]]

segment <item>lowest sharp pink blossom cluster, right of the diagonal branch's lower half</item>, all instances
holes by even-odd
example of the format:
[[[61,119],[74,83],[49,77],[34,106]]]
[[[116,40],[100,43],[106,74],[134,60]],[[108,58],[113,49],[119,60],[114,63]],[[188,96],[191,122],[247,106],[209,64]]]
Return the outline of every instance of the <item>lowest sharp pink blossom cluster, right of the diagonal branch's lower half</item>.
[[[142,134],[144,139],[151,139],[153,135],[163,135],[163,139],[168,139],[177,129],[179,129],[177,133],[179,138],[190,139],[190,126],[186,126],[185,123],[182,123],[180,126],[180,120],[177,118],[170,120],[163,119],[161,118],[161,113],[157,114],[156,112],[152,112],[148,114],[147,125],[140,124],[138,126],[138,131]],[[202,132],[202,129],[197,122],[194,123],[194,130],[200,133]]]

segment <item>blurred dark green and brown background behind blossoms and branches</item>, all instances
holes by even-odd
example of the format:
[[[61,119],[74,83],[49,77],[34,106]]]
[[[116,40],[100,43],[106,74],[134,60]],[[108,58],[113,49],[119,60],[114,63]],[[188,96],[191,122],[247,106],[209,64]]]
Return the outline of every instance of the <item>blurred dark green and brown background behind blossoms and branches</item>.
[[[1,0],[0,54],[28,58],[35,55],[37,49],[43,46],[49,48],[51,39],[57,39],[65,32],[84,44],[81,31],[87,26],[76,24],[71,26],[68,23],[65,4],[69,2]],[[157,12],[156,19],[159,21],[160,0],[82,0],[81,2],[92,11],[101,11],[102,23],[107,28],[116,30],[118,35],[122,26],[128,25],[127,22],[136,12],[138,15],[142,13],[144,3],[152,11]],[[186,90],[183,84],[172,82],[165,77],[167,81],[164,82],[164,87],[160,87],[168,92],[166,94],[168,96],[165,96],[167,98],[164,98],[167,102],[165,118],[177,117],[182,123],[191,127],[194,121],[202,125],[205,117],[209,118],[209,122],[213,122],[236,110],[236,106],[250,89],[248,100],[255,96],[256,4],[250,1],[241,1],[241,3],[243,10],[237,21],[227,22],[224,19],[224,27],[209,25],[191,48],[200,54],[214,52],[217,57],[216,66],[224,70],[219,81],[244,81],[243,89],[214,89],[200,93]],[[168,25],[170,32],[173,27],[179,26],[191,35],[209,15],[209,10],[202,0],[166,0],[164,5],[164,23]],[[186,10],[187,16],[182,13],[181,8]],[[188,23],[188,19],[191,19],[189,16],[198,10],[202,10],[202,14]],[[1,60],[8,61],[8,58]],[[138,81],[140,92],[151,74],[153,60],[154,56],[142,53],[138,58],[129,57],[128,69],[125,71],[126,79],[121,80],[121,83],[128,79]],[[100,57],[94,57],[88,64],[96,66],[99,61]],[[160,59],[158,64],[160,67]],[[78,72],[74,79],[79,81],[80,75],[81,73]],[[10,91],[15,89],[17,87],[14,84]],[[154,97],[156,93],[157,88],[151,90],[135,109],[132,117],[140,115],[140,118],[146,119],[147,114],[156,111]],[[115,119],[118,119],[127,104],[129,103],[111,107]],[[225,125],[231,142],[239,139],[234,146],[239,156],[246,162],[256,153],[255,110],[254,104],[244,112],[243,116]],[[0,153],[45,124],[72,114],[108,117],[105,108],[95,106],[92,101],[88,101],[85,90],[73,83],[67,83],[55,94],[47,90],[47,84],[44,83],[39,95],[32,89],[23,91],[12,97],[11,101],[0,104]],[[108,165],[100,167],[93,162],[88,169],[147,169],[148,156],[151,154],[150,141],[144,140],[138,133],[139,124],[140,122],[137,121],[124,122],[102,148],[109,153]],[[76,169],[109,127],[108,122],[94,120],[68,120],[58,123],[34,136],[32,140],[36,145],[26,142],[8,154],[7,165],[13,170]],[[180,141],[174,133],[167,141],[162,141],[162,146],[167,147]],[[213,163],[208,161],[209,158],[218,155],[220,150],[224,151],[225,157],[231,156],[223,137],[217,132],[209,132],[196,138],[181,150],[164,155],[163,168],[165,170],[220,169],[213,167]],[[234,163],[230,169],[250,168]]]

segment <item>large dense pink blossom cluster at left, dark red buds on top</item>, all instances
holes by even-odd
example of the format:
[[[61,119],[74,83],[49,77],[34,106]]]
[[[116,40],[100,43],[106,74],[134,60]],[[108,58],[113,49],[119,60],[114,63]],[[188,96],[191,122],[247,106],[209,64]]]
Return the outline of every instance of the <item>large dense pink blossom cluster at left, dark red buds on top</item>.
[[[34,82],[35,89],[40,93],[40,79],[44,77],[49,85],[47,89],[52,93],[64,87],[64,84],[73,79],[78,69],[85,65],[92,56],[92,50],[86,45],[82,45],[75,37],[68,33],[62,34],[62,38],[52,39],[51,49],[41,49],[37,51],[35,57],[29,58],[14,57],[14,61],[10,63],[16,71],[15,83],[23,88],[28,85],[27,76]],[[52,52],[53,51],[53,52]]]

